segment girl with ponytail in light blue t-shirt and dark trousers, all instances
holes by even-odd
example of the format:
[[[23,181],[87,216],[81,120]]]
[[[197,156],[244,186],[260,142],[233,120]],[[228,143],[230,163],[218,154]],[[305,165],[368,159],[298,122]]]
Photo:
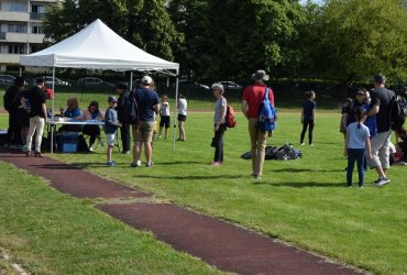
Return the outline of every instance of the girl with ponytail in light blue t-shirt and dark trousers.
[[[348,173],[346,173],[346,184],[348,187],[352,187],[352,174],[354,168],[354,163],[358,163],[359,173],[359,187],[364,187],[364,174],[363,168],[365,150],[367,150],[367,156],[372,157],[370,131],[366,125],[362,123],[363,111],[362,108],[355,109],[356,122],[353,122],[346,128],[346,139],[344,144],[343,155],[348,156]]]

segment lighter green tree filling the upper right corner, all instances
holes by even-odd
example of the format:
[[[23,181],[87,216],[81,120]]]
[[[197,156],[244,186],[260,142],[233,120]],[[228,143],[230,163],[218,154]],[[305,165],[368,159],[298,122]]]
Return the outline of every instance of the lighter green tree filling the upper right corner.
[[[378,72],[407,79],[406,3],[328,0],[310,26],[312,70],[342,82],[365,81]]]

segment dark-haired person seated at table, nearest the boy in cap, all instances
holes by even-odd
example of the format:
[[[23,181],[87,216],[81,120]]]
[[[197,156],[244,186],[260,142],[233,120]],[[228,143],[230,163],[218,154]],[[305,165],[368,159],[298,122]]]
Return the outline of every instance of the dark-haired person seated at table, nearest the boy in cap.
[[[79,120],[99,120],[103,121],[105,116],[99,109],[98,101],[91,101],[88,109],[84,110],[82,114],[80,116]],[[85,124],[82,128],[82,133],[89,135],[89,152],[94,152],[94,144],[96,139],[98,139],[100,146],[105,146],[105,142],[100,139],[100,128],[99,125],[87,125]]]

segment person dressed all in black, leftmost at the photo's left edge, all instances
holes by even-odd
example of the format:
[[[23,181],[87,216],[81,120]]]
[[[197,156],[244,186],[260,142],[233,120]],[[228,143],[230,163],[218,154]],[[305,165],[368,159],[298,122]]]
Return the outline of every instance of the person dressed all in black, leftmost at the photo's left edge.
[[[7,142],[10,143],[11,146],[22,145],[22,140],[20,135],[21,127],[18,123],[18,111],[20,105],[14,99],[18,97],[21,88],[23,87],[24,78],[16,77],[14,80],[14,85],[6,91],[3,97],[4,109],[9,112],[9,129],[7,133]]]

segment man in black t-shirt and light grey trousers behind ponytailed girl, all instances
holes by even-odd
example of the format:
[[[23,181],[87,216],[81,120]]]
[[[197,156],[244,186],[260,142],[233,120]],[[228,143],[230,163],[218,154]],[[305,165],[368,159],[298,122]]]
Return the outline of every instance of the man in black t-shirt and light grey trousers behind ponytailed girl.
[[[386,176],[389,167],[389,139],[391,139],[391,120],[389,108],[393,99],[393,92],[385,88],[386,77],[378,74],[373,78],[374,91],[372,91],[372,109],[367,117],[376,116],[377,134],[371,139],[372,158],[366,155],[367,164],[371,168],[375,168],[380,178],[376,180],[376,186],[383,186],[391,180]]]

